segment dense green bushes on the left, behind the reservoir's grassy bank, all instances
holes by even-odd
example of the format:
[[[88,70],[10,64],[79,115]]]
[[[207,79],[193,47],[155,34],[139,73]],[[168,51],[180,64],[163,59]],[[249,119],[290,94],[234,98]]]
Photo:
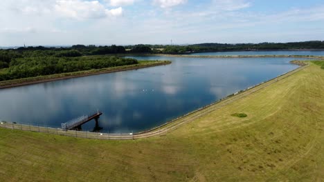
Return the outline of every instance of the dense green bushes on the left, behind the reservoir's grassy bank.
[[[110,68],[136,63],[138,63],[136,59],[114,56],[20,57],[10,61],[8,68],[0,70],[0,81],[59,74],[64,72]]]

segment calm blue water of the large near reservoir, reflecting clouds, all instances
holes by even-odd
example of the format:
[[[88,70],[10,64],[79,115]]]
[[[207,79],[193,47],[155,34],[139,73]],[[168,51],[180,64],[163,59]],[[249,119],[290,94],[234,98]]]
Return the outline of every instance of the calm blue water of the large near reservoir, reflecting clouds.
[[[138,132],[297,68],[287,58],[137,58],[173,62],[0,90],[0,119],[60,128],[99,109],[105,132]]]

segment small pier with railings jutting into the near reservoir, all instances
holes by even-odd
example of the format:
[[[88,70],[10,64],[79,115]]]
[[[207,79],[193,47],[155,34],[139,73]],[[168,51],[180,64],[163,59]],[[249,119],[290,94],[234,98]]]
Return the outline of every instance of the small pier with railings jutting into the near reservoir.
[[[95,119],[96,128],[98,128],[98,119],[102,115],[102,112],[98,111],[95,114],[91,114],[91,116],[82,116],[77,119],[73,119],[72,121],[62,123],[62,130],[81,130],[81,125]]]

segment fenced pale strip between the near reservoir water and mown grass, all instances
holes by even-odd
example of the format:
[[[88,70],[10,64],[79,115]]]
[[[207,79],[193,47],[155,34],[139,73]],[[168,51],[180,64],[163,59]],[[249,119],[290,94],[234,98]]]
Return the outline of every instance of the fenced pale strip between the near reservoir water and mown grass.
[[[246,97],[247,95],[257,92],[262,88],[266,88],[269,85],[280,81],[281,79],[285,79],[289,77],[291,74],[294,74],[304,68],[307,68],[309,65],[301,66],[291,72],[287,72],[285,74],[281,74],[280,76],[270,79],[269,81],[262,82],[258,85],[253,87],[247,88],[246,90],[241,90],[240,92],[236,92],[235,94],[231,94],[225,99],[221,99],[215,103],[211,103],[210,105],[206,105],[203,108],[199,108],[193,112],[190,112],[182,117],[178,117],[177,119],[173,119],[172,121],[160,125],[157,128],[153,128],[152,130],[147,130],[144,132],[138,133],[103,133],[103,132],[84,132],[78,130],[63,130],[62,128],[49,128],[49,127],[42,127],[42,126],[35,126],[35,125],[25,125],[25,124],[17,124],[17,123],[8,123],[6,121],[2,121],[0,127],[2,128],[9,128],[12,130],[26,130],[31,132],[43,132],[48,134],[58,134],[62,136],[74,136],[79,138],[85,139],[104,139],[104,140],[131,140],[131,139],[143,139],[152,136],[163,136],[167,132],[175,130],[179,128],[179,126],[183,125],[184,123],[189,123],[194,121],[195,119],[208,114],[214,110],[224,107],[224,105],[228,105],[229,103],[233,103],[242,97]]]

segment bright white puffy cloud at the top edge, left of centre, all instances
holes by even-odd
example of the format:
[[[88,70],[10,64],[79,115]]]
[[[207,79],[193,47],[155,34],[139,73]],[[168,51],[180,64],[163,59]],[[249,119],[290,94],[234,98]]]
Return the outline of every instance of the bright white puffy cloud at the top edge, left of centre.
[[[118,17],[123,13],[122,8],[108,10],[99,1],[59,0],[55,10],[63,17],[73,19],[100,19],[107,16]]]

